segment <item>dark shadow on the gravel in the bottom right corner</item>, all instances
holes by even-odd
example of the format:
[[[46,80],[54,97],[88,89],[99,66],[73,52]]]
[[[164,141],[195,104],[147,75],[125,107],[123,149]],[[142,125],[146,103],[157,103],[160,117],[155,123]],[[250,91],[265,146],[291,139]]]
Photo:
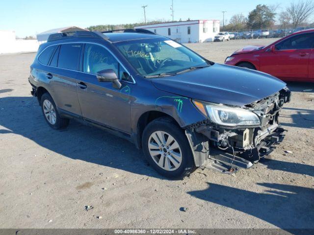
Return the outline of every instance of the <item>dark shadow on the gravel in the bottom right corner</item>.
[[[208,183],[207,189],[188,194],[255,216],[279,228],[314,228],[313,188],[271,183],[258,185],[265,187],[262,192]],[[227,218],[234,218],[227,210],[223,213]]]

